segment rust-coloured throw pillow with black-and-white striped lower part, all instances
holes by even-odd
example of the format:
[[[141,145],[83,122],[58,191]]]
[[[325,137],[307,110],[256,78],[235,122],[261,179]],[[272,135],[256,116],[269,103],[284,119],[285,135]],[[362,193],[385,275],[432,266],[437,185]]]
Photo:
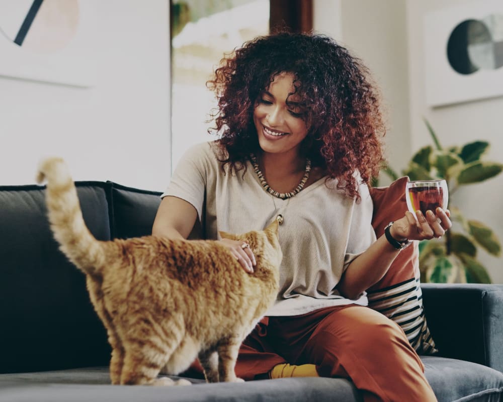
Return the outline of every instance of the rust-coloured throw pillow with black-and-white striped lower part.
[[[407,181],[405,176],[388,187],[370,189],[374,203],[372,227],[377,237],[382,236],[388,223],[402,218],[407,211]],[[417,352],[437,352],[423,309],[417,242],[400,251],[384,277],[371,286],[367,294],[369,307],[400,325]]]

